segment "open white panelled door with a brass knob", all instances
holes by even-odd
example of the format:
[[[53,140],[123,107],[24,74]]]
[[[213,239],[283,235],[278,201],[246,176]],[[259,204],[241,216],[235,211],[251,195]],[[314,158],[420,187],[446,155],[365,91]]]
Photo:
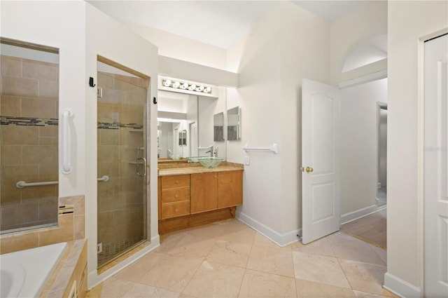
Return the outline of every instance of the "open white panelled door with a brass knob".
[[[302,81],[302,243],[339,231],[337,88]]]

